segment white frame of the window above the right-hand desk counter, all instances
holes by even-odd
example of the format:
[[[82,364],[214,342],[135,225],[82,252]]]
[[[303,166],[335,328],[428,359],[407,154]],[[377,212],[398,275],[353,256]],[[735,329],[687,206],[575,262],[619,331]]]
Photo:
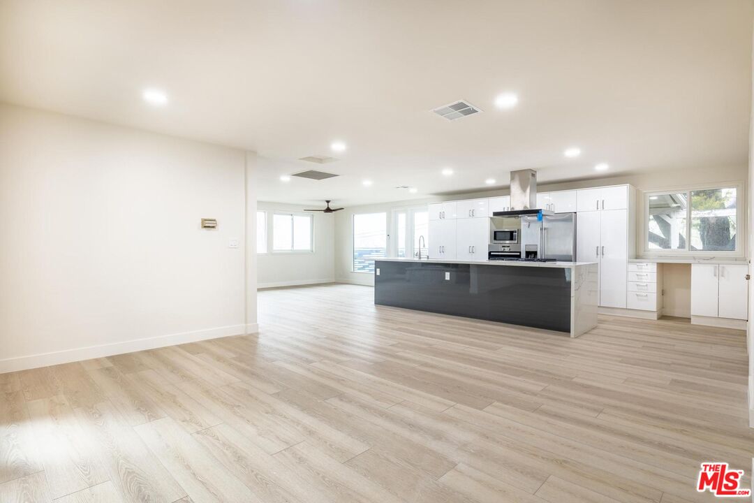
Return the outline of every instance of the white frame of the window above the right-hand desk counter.
[[[691,250],[691,192],[716,189],[736,189],[736,249],[735,250]],[[683,193],[688,198],[686,210],[686,247],[685,249],[658,250],[649,247],[649,198],[657,195]],[[745,184],[743,182],[705,183],[693,186],[670,187],[667,189],[652,189],[642,192],[641,220],[642,220],[642,256],[674,256],[674,257],[704,257],[710,259],[716,256],[740,258],[746,256],[746,199]]]

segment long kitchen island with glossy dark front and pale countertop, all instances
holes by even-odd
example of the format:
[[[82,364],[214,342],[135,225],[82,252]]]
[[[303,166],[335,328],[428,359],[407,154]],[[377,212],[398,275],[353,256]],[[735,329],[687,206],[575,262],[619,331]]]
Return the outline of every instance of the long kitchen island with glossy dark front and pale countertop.
[[[375,260],[375,304],[578,337],[596,327],[596,262]]]

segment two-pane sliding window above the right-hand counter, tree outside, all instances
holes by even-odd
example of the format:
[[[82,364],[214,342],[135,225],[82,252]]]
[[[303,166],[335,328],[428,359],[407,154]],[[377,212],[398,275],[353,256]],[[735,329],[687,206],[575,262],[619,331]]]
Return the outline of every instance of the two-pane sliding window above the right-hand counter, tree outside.
[[[700,189],[647,195],[646,250],[737,251],[737,189]]]

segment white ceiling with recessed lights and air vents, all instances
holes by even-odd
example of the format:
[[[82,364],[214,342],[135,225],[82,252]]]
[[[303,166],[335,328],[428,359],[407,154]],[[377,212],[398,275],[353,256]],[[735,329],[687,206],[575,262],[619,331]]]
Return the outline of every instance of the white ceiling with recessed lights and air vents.
[[[743,165],[750,0],[0,0],[0,100],[256,150],[337,206]],[[143,103],[144,87],[170,103]],[[502,91],[520,103],[495,109]],[[430,112],[467,100],[483,113]],[[298,158],[335,155],[317,166]],[[566,159],[563,149],[582,155]],[[452,167],[449,178],[440,175]],[[329,170],[320,182],[283,173]],[[373,180],[362,186],[362,180]],[[415,186],[409,195],[396,186]]]

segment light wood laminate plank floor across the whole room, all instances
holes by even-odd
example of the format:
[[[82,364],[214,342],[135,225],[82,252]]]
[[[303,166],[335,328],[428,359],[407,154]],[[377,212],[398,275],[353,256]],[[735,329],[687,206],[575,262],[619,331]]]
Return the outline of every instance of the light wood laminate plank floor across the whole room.
[[[0,501],[714,501],[706,461],[750,487],[743,332],[259,304],[258,336],[0,375]]]

